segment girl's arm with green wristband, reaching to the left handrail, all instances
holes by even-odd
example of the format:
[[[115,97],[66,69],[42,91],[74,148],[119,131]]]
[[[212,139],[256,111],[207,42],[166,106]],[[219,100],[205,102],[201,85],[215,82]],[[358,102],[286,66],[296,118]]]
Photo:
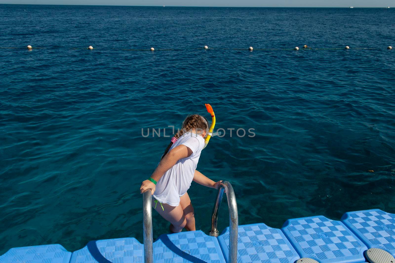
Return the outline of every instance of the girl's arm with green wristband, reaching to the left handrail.
[[[159,181],[160,178],[166,173],[170,168],[172,168],[175,163],[183,158],[187,158],[192,154],[192,150],[186,147],[185,145],[179,145],[171,149],[167,154],[160,160],[158,167],[156,167],[155,171],[150,176],[155,181]],[[140,193],[143,193],[147,189],[152,189],[151,194],[155,192],[155,184],[152,183],[150,180],[144,180],[141,183]]]

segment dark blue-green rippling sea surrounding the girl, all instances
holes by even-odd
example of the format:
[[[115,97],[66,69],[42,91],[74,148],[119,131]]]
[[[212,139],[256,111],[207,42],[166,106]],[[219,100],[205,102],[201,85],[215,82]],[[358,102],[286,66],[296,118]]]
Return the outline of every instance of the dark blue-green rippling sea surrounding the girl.
[[[142,241],[139,186],[163,129],[210,118],[205,103],[225,133],[198,170],[232,183],[240,224],[395,212],[394,21],[395,8],[0,5],[0,254]],[[207,233],[216,191],[188,192]]]

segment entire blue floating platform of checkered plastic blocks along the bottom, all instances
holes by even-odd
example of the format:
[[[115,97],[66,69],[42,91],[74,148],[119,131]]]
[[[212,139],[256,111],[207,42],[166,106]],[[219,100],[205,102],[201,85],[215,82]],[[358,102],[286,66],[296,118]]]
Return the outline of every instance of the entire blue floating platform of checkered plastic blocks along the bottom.
[[[229,227],[218,237],[202,231],[162,234],[153,243],[155,263],[229,262]],[[382,210],[289,219],[282,229],[240,225],[239,263],[395,263],[395,214]],[[144,263],[135,238],[90,241],[73,253],[59,244],[11,248],[0,263]]]

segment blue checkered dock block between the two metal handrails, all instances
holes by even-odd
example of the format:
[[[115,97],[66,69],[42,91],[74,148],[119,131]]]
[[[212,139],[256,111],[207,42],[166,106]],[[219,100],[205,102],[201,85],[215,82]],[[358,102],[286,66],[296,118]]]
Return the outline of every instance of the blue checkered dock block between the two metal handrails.
[[[154,242],[155,263],[225,263],[217,238],[202,231],[162,234]]]

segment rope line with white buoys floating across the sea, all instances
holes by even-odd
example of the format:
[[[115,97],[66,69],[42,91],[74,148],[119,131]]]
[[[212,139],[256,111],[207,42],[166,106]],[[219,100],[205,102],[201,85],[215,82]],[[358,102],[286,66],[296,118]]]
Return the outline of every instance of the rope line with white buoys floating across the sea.
[[[55,48],[62,48],[62,47],[53,47],[53,48],[33,48],[32,46],[28,45],[26,47],[28,50],[32,49],[55,49]],[[26,48],[1,48],[0,49],[26,49]],[[69,48],[73,50],[77,49],[84,49],[84,50],[93,50],[93,49],[99,49],[99,50],[128,50],[128,51],[172,51],[172,50],[184,50],[182,48],[164,48],[164,49],[135,49],[135,48],[93,48],[92,46],[88,46],[88,48]],[[349,46],[345,46],[344,48],[310,48],[307,45],[304,45],[303,48],[299,49],[298,47],[295,48],[209,48],[208,46],[204,46],[203,48],[191,48],[192,50],[293,50],[293,51],[299,51],[299,50],[349,50],[349,49],[355,49],[355,50],[377,50],[377,49],[384,49],[384,48],[350,48]],[[391,50],[392,47],[388,46],[386,49]]]

